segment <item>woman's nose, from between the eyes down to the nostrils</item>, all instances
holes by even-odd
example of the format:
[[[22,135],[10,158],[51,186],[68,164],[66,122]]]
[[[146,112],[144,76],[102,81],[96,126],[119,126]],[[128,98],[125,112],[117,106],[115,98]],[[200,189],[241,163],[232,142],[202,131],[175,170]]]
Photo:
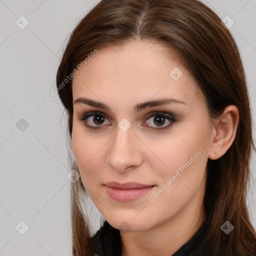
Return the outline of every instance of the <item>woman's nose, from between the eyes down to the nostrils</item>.
[[[109,150],[106,157],[106,164],[112,170],[125,172],[141,165],[143,156],[141,152],[141,142],[133,134],[133,129],[123,131],[117,127],[117,132],[108,143]]]

